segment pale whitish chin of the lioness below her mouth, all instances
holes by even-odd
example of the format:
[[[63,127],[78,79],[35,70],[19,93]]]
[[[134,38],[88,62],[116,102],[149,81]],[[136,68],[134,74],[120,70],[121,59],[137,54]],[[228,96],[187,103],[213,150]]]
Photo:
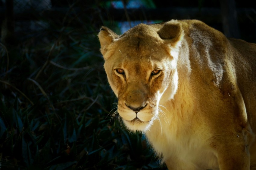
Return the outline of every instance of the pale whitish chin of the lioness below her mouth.
[[[143,122],[143,121],[139,120],[138,118],[135,118],[135,119],[130,120],[130,121],[123,120],[123,122],[129,130],[132,130],[132,131],[135,131],[135,132],[136,131],[145,132],[151,126],[151,121]]]

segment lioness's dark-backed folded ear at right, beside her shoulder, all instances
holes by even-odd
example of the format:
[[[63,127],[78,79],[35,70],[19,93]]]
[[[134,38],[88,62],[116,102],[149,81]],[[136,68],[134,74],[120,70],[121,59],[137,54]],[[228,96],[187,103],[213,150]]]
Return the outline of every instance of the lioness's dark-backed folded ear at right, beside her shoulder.
[[[170,42],[171,46],[180,46],[184,36],[182,25],[177,20],[170,20],[164,24],[164,26],[158,30],[160,38]]]

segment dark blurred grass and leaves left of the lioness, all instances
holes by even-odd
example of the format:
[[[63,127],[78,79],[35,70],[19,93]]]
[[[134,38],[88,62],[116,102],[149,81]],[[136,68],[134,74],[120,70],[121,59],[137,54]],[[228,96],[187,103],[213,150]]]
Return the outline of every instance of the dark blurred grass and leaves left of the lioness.
[[[101,20],[81,17],[76,2],[54,20],[40,18],[46,26],[16,32],[15,45],[0,43],[1,170],[158,169],[145,137],[114,114]]]

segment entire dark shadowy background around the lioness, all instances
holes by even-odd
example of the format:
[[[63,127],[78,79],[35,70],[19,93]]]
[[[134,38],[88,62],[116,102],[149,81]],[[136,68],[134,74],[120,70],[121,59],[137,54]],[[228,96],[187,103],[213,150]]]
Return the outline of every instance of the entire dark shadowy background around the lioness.
[[[227,37],[255,43],[253,4],[0,1],[1,169],[166,169],[145,136],[127,131],[116,113],[99,28],[120,34],[140,22],[198,19]]]

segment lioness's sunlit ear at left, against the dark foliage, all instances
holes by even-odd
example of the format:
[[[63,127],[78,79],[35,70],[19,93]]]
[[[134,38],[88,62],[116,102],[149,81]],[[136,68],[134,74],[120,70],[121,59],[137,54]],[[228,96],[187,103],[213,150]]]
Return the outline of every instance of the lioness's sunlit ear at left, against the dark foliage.
[[[105,26],[101,27],[100,32],[98,33],[98,38],[100,40],[100,44],[101,44],[100,51],[101,51],[103,57],[108,50],[108,46],[117,37],[118,37],[118,35],[116,33],[114,33],[111,29],[109,29],[108,27],[105,27]],[[105,59],[105,57],[104,57],[104,59]]]

